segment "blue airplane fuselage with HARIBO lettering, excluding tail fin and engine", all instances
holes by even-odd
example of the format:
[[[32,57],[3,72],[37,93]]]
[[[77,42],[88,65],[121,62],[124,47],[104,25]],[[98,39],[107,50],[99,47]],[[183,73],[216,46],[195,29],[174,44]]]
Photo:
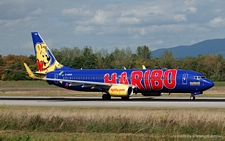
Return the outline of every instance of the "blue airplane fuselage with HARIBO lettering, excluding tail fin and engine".
[[[132,85],[135,92],[169,92],[201,94],[214,86],[202,74],[188,70],[146,69],[146,70],[56,70],[47,73],[46,78],[103,82]],[[105,91],[102,87],[82,84],[72,85],[63,81],[48,81],[63,88],[78,91]]]

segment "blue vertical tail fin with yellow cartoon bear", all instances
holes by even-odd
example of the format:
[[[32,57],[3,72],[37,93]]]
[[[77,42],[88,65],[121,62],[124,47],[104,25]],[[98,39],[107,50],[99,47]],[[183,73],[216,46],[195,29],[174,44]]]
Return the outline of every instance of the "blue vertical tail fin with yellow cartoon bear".
[[[38,32],[31,32],[39,72],[50,72],[63,66],[55,59]]]

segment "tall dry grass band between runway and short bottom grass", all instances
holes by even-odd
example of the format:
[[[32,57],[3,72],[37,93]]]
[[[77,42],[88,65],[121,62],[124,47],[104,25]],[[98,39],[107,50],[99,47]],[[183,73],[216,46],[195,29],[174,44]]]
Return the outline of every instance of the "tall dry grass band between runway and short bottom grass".
[[[33,109],[3,105],[0,130],[224,136],[224,111],[224,109],[82,107]]]

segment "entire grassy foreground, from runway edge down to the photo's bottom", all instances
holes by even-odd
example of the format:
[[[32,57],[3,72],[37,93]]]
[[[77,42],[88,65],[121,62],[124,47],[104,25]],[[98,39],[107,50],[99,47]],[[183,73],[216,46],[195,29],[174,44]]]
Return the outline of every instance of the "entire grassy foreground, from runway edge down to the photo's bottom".
[[[0,107],[0,140],[221,140],[225,109]]]

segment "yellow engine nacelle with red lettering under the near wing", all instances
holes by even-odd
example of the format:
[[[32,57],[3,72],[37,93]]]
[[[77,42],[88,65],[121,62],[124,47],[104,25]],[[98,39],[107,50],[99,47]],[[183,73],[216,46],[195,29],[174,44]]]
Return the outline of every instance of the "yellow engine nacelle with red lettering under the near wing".
[[[115,97],[127,97],[133,94],[133,88],[129,85],[112,85],[109,94]]]

